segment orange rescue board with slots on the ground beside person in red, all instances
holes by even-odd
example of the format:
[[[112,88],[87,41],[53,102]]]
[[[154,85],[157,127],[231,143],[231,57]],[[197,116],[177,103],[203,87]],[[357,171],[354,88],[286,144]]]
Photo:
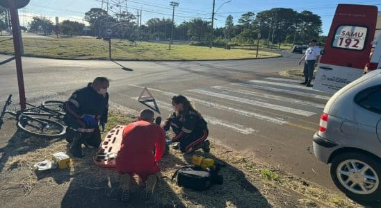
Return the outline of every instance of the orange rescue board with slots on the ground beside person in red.
[[[125,125],[117,125],[107,133],[99,151],[92,157],[92,161],[97,166],[115,168],[115,159],[122,144],[124,127]]]

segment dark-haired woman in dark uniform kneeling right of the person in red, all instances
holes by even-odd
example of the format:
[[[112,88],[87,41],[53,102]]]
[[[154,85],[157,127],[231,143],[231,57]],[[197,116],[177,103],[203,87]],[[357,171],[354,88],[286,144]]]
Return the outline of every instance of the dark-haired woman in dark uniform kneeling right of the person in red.
[[[191,153],[200,148],[209,153],[209,141],[206,140],[209,130],[200,112],[182,95],[172,97],[172,107],[175,112],[170,114],[162,127],[165,131],[172,128],[176,136],[167,144],[179,142],[181,153]]]

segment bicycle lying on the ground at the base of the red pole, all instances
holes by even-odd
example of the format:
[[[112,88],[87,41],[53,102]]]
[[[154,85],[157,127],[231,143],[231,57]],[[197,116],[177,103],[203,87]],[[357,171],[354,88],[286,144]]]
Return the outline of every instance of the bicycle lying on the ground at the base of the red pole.
[[[8,96],[3,111],[0,114],[0,129],[1,125],[3,125],[3,116],[5,114],[10,114],[15,116],[15,119],[17,120],[17,128],[28,135],[43,138],[55,138],[65,135],[65,125],[50,120],[52,117],[61,119],[61,116],[65,114],[64,112],[60,112],[62,109],[54,109],[54,107],[50,105],[35,106],[27,103],[27,105],[31,107],[26,108],[25,110],[9,111],[6,110],[6,108],[12,103],[11,98],[12,94]],[[44,102],[42,104],[44,104]],[[45,104],[63,105],[63,102],[54,101]],[[41,116],[47,117],[47,119],[42,118]]]

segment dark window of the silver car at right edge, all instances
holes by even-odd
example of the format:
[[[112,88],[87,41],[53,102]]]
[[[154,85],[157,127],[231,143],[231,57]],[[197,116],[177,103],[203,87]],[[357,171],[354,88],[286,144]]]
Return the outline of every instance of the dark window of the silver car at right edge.
[[[381,114],[381,85],[366,88],[355,96],[355,103],[366,110]]]

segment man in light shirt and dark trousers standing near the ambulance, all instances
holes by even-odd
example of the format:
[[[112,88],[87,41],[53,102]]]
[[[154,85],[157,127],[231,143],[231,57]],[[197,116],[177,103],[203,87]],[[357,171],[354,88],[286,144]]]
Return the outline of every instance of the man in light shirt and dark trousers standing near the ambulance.
[[[318,44],[317,40],[311,40],[305,55],[303,55],[298,62],[300,65],[302,60],[305,60],[305,68],[303,69],[303,73],[305,74],[305,81],[300,83],[300,85],[306,85],[306,87],[312,87],[311,80],[314,78],[314,69],[318,65],[321,57],[320,49],[318,46],[316,46],[316,44]]]

